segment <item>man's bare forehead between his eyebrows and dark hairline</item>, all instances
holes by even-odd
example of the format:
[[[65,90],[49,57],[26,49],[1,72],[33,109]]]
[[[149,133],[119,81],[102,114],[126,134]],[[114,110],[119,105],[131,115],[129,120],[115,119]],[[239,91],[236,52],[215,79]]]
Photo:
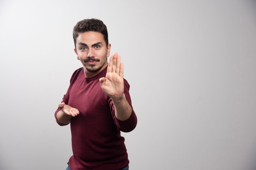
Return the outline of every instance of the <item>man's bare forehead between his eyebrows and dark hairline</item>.
[[[95,31],[87,31],[87,32],[79,33],[76,39],[76,45],[78,45],[81,42],[89,46],[98,42],[101,42],[102,44],[106,44],[103,34]]]

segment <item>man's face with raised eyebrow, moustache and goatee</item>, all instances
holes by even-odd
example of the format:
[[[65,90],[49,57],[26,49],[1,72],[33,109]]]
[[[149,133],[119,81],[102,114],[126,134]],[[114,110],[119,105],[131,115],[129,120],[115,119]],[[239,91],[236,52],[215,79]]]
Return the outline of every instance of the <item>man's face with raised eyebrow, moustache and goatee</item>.
[[[80,33],[76,39],[77,59],[83,64],[86,77],[92,77],[101,72],[107,65],[111,45],[106,45],[101,33],[87,31]]]

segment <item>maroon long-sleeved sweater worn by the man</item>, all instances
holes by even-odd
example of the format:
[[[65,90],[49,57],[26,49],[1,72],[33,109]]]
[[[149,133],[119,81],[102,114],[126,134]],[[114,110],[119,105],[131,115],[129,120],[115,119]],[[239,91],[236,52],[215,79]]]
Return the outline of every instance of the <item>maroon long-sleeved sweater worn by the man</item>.
[[[137,117],[133,109],[128,120],[120,121],[115,117],[113,102],[103,93],[99,83],[99,78],[105,77],[106,72],[107,67],[96,76],[85,78],[83,68],[79,68],[73,73],[70,87],[63,96],[62,102],[80,112],[70,122],[73,155],[69,165],[72,170],[115,170],[129,164],[120,131],[132,131]],[[124,94],[132,107],[129,87],[124,79]],[[65,125],[57,119],[56,122]]]

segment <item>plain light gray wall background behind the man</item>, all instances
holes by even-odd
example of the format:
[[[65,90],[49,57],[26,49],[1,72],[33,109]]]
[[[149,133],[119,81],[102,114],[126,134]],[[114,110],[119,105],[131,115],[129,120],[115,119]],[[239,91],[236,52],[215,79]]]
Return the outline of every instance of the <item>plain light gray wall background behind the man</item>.
[[[256,169],[253,0],[0,0],[0,169],[64,170],[54,111],[81,63],[72,29],[103,20],[137,113],[131,170]]]

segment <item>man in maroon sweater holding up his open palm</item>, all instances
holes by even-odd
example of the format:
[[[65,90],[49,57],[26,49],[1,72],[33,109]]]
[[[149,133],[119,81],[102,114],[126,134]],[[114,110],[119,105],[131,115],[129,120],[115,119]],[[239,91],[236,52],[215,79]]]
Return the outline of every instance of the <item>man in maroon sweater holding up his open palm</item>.
[[[82,20],[73,30],[74,52],[83,68],[76,70],[55,112],[56,122],[70,123],[73,155],[67,170],[128,169],[120,131],[137,125],[120,55],[111,55],[108,31],[101,20]]]

